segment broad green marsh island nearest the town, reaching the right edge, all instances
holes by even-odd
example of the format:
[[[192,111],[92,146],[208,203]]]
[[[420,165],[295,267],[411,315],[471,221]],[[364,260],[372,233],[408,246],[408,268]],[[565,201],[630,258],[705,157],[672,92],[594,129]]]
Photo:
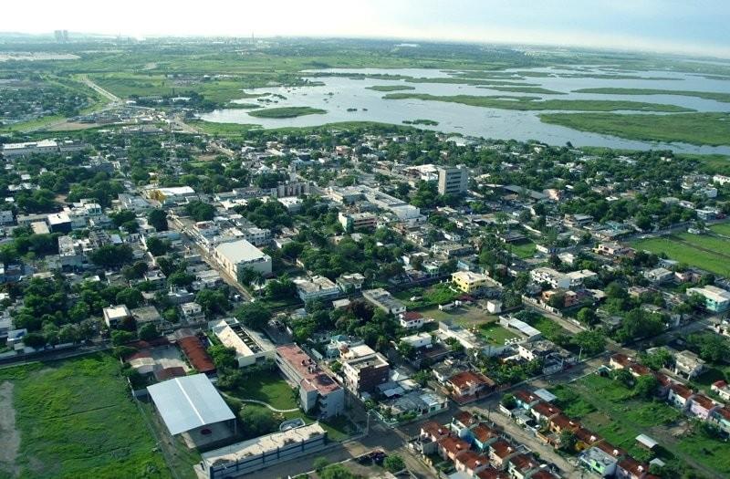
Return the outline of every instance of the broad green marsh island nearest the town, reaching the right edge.
[[[631,140],[682,141],[695,145],[730,144],[730,114],[695,112],[677,115],[614,113],[543,113],[540,120],[574,130]]]

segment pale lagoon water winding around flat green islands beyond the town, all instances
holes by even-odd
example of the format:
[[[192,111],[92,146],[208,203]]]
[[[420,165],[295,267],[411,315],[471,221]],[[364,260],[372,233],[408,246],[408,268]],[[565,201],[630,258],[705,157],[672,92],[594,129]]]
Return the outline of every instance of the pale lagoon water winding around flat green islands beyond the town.
[[[401,68],[401,69],[328,69],[312,70],[318,72],[364,73],[404,75],[415,78],[447,78],[456,72]],[[245,109],[217,109],[202,116],[203,120],[224,123],[255,123],[262,127],[309,127],[338,121],[379,121],[383,123],[402,124],[403,120],[427,119],[438,121],[438,126],[420,126],[427,130],[456,132],[475,137],[518,141],[537,140],[553,145],[564,145],[571,142],[575,146],[603,146],[616,149],[631,150],[673,150],[693,153],[730,154],[730,146],[697,146],[686,143],[663,143],[652,141],[625,140],[610,135],[601,135],[567,127],[543,123],[538,113],[547,111],[516,111],[507,109],[488,109],[472,107],[443,101],[425,101],[420,99],[382,99],[384,92],[367,89],[374,85],[406,85],[412,90],[406,93],[428,93],[432,95],[477,95],[477,96],[527,96],[543,99],[624,99],[649,103],[666,103],[678,105],[697,111],[730,111],[730,103],[711,99],[698,99],[677,95],[601,95],[589,93],[573,93],[575,89],[588,88],[623,88],[623,89],[673,89],[694,91],[716,91],[730,93],[730,81],[697,77],[689,73],[666,71],[614,71],[598,68],[518,68],[506,70],[516,75],[519,71],[544,72],[550,77],[495,78],[495,81],[515,81],[532,83],[544,89],[566,93],[565,95],[541,95],[534,93],[506,92],[484,86],[462,84],[412,83],[404,80],[383,80],[375,78],[352,79],[343,77],[314,78],[325,83],[318,87],[275,87],[250,89],[250,93],[270,93],[283,95],[286,99],[276,99],[276,103],[262,103],[262,107],[312,107],[326,109],[326,114],[308,115],[292,119],[262,119],[248,115]],[[504,72],[500,72],[504,73]],[[627,78],[589,78],[560,77],[560,74],[616,74],[625,76],[641,76],[642,78],[675,78],[675,79],[627,79]],[[480,78],[485,79],[487,78]],[[241,99],[241,103],[254,103],[255,99]],[[348,109],[357,109],[348,111]],[[625,111],[624,113],[636,113]]]

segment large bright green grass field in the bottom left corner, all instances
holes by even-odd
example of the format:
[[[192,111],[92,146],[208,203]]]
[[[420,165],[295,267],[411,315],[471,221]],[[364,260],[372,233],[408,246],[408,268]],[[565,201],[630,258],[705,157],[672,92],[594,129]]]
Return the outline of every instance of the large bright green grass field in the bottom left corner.
[[[120,365],[106,354],[0,370],[12,384],[20,434],[3,474],[47,477],[170,477],[130,399]],[[2,442],[7,440],[5,434]],[[2,444],[3,448],[7,444]]]

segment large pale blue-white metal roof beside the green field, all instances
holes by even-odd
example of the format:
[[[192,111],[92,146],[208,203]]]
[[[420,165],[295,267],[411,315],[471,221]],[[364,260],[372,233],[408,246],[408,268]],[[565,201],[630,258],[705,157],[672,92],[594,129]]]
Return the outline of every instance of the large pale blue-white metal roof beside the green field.
[[[204,374],[166,380],[147,390],[172,435],[235,418]]]

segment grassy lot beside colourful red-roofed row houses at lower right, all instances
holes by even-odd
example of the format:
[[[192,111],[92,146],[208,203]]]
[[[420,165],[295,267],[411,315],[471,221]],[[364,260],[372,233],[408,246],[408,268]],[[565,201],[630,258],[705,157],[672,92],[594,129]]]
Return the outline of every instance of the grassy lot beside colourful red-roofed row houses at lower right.
[[[555,392],[559,407],[641,461],[652,457],[635,441],[646,433],[660,444],[656,454],[665,462],[684,463],[708,477],[730,474],[730,445],[706,436],[663,401],[635,397],[631,389],[598,375],[560,385]]]

